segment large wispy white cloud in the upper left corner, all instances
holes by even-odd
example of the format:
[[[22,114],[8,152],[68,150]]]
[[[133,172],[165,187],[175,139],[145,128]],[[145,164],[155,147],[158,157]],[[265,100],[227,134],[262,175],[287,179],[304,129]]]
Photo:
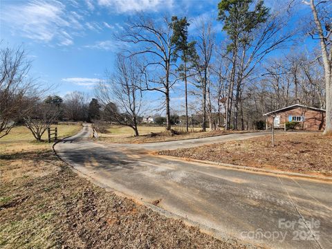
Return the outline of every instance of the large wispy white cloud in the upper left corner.
[[[72,30],[81,30],[82,16],[66,11],[59,1],[30,1],[4,6],[0,21],[8,25],[13,33],[19,33],[39,42],[55,41],[59,45],[73,44]]]

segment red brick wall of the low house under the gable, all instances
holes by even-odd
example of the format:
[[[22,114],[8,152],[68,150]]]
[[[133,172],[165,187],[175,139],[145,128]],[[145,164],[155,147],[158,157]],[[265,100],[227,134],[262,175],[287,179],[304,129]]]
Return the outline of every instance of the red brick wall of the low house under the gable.
[[[325,128],[325,113],[320,111],[297,107],[296,109],[290,111],[276,113],[276,116],[280,116],[279,127],[284,127],[284,123],[288,122],[288,116],[304,116],[304,122],[299,122],[297,129],[319,131]],[[269,127],[272,125],[272,120],[272,117],[268,117]]]

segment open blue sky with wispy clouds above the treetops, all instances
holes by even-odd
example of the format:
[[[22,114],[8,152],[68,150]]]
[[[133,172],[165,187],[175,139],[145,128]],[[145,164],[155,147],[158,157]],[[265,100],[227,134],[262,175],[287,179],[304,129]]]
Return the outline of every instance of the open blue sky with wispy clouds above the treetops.
[[[216,21],[214,0],[0,0],[0,46],[23,44],[33,60],[32,75],[44,84],[57,86],[54,93],[65,95],[82,91],[93,96],[93,87],[112,71],[119,43],[112,39],[121,33],[128,18],[143,12],[187,16],[194,21],[210,17],[221,39],[222,25]],[[278,1],[266,1],[275,6]],[[304,8],[302,6],[301,8]],[[190,33],[194,26],[190,26]],[[309,42],[310,44],[312,42]],[[150,95],[151,96],[151,95]],[[183,94],[173,93],[173,103]]]

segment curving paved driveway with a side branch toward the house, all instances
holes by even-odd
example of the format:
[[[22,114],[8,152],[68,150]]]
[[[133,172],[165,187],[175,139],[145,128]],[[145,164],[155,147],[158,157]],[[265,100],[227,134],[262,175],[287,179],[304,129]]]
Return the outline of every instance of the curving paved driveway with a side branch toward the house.
[[[164,210],[220,234],[262,246],[332,248],[332,184],[149,154],[149,149],[192,147],[264,133],[103,145],[89,140],[90,129],[84,127],[77,136],[55,145],[55,149],[96,183],[147,203],[160,200],[158,206]]]

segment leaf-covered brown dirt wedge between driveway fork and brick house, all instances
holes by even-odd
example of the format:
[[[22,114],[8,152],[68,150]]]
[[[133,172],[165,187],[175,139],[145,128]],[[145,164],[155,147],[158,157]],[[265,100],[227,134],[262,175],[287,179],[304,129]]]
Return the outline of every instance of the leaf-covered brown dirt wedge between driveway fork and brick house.
[[[157,154],[332,176],[331,136],[286,133],[277,134],[275,140],[275,147],[271,146],[270,136],[262,136],[191,149],[158,151]]]

